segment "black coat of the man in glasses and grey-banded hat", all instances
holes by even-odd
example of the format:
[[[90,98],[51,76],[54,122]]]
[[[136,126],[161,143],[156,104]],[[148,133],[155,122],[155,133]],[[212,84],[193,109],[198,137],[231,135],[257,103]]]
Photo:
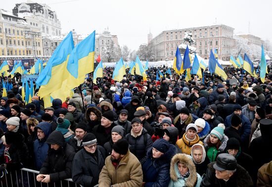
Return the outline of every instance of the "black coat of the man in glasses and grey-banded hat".
[[[73,182],[84,187],[93,187],[98,184],[99,173],[105,165],[105,150],[97,145],[96,160],[84,148],[76,153],[72,166]]]

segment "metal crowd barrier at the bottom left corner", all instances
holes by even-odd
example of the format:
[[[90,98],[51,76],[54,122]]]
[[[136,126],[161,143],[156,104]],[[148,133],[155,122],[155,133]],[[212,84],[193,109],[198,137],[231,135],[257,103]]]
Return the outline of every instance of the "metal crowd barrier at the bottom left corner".
[[[36,176],[39,171],[22,168],[8,172],[0,178],[0,187],[82,187],[73,182],[72,179],[64,179],[56,183],[37,182]]]

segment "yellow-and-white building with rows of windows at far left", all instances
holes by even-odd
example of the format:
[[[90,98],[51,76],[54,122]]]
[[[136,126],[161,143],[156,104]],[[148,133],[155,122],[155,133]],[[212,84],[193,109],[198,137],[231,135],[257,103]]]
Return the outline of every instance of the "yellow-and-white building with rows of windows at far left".
[[[32,28],[25,18],[0,9],[0,55],[44,55],[39,29]]]

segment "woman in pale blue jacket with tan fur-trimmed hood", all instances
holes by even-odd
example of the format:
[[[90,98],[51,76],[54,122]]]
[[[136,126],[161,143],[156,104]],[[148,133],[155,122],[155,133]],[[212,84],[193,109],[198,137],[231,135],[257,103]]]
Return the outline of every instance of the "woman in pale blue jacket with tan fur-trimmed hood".
[[[168,187],[200,187],[202,181],[192,157],[181,153],[176,154],[171,160],[170,177]]]

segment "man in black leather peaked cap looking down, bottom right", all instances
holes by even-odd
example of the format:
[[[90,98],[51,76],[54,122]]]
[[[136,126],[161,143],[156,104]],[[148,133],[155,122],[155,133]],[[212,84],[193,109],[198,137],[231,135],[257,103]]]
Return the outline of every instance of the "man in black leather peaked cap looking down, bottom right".
[[[216,162],[208,164],[200,187],[253,187],[253,182],[248,172],[237,164],[234,156],[222,153]]]

